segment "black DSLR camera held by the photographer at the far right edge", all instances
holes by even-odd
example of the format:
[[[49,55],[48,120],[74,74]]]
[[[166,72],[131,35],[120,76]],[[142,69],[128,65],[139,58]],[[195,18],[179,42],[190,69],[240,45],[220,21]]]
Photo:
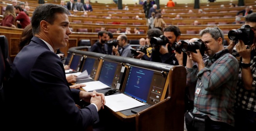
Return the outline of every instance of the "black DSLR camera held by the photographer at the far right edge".
[[[230,30],[228,32],[228,38],[238,43],[238,40],[242,40],[245,45],[251,45],[254,43],[254,30],[250,25],[242,25],[240,29]]]

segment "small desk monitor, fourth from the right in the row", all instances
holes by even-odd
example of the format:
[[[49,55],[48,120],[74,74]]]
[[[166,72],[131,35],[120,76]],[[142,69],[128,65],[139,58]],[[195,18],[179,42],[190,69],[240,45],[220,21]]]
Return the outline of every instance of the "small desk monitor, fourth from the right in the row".
[[[70,69],[73,69],[74,71],[78,71],[79,72],[82,61],[83,61],[83,55],[81,55],[81,54],[74,54],[71,57]]]

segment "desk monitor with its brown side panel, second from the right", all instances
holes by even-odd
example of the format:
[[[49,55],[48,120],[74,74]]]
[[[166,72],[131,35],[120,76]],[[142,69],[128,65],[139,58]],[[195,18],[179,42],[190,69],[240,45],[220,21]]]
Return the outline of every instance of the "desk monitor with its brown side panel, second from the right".
[[[121,63],[104,60],[98,81],[112,88],[121,89],[125,71],[126,69]]]

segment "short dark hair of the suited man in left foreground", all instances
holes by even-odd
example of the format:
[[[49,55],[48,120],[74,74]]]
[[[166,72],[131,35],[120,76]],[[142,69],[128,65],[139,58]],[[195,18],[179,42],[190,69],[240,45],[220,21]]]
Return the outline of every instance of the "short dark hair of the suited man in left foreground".
[[[42,20],[45,20],[51,25],[54,24],[56,13],[65,13],[69,15],[68,10],[61,5],[46,3],[36,7],[31,18],[33,34],[35,35],[40,32],[40,22]]]

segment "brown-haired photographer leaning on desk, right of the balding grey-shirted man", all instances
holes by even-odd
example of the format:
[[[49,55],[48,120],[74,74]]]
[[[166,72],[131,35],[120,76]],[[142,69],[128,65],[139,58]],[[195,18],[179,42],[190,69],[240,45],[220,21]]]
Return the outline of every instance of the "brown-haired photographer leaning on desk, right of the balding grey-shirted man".
[[[161,59],[159,57],[160,56],[159,48],[158,48],[158,50],[153,49],[151,44],[150,44],[150,40],[151,40],[151,37],[160,37],[162,34],[163,34],[163,32],[159,29],[156,29],[156,28],[155,29],[149,29],[149,31],[147,32],[147,39],[145,40],[147,42],[147,45],[148,45],[147,54],[137,50],[136,52],[138,52],[139,55],[134,56],[134,57],[137,58],[137,59],[149,60],[149,61],[154,61],[154,62],[161,62]],[[158,59],[152,59],[153,52],[156,56],[158,56]]]

